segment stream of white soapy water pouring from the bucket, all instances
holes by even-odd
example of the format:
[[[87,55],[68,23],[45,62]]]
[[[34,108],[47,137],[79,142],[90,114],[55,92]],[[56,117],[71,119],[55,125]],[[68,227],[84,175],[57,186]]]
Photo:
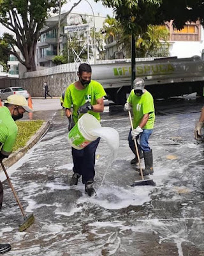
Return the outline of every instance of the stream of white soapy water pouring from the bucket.
[[[111,127],[101,127],[101,128],[96,128],[92,129],[90,133],[93,136],[99,136],[103,140],[105,140],[108,143],[108,147],[110,148],[110,151],[112,154],[110,155],[110,161],[108,161],[107,168],[105,170],[105,173],[103,175],[103,179],[101,181],[101,185],[103,184],[106,173],[108,169],[110,168],[110,165],[115,161],[115,158],[117,157],[117,153],[119,151],[119,133],[111,128]],[[101,187],[99,186],[99,188]]]

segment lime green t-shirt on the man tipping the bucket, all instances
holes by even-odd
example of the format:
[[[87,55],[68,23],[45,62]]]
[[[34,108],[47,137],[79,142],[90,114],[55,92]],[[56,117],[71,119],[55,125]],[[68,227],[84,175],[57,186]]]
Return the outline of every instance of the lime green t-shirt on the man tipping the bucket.
[[[96,100],[102,98],[105,96],[105,90],[103,89],[103,86],[98,83],[97,81],[91,80],[89,85],[85,87],[83,90],[78,90],[75,87],[75,84],[70,84],[68,88],[66,89],[65,95],[64,95],[64,108],[71,108],[73,107],[73,120],[75,121],[75,124],[78,121],[78,118],[80,118],[83,114],[80,114],[78,116],[78,108],[82,105],[84,105],[86,102],[90,102],[91,105],[96,105]],[[98,120],[100,120],[99,113],[96,113],[94,111],[88,111],[87,113],[95,116]]]

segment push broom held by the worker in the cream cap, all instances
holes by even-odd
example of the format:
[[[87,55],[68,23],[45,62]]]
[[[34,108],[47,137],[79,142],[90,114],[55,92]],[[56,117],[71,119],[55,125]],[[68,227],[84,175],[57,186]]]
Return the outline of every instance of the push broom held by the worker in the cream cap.
[[[29,228],[33,224],[33,222],[34,222],[34,215],[32,213],[28,217],[26,217],[24,209],[23,209],[23,207],[20,204],[20,201],[18,199],[17,193],[15,193],[13,185],[11,184],[10,177],[8,176],[8,173],[6,172],[6,168],[4,167],[4,164],[2,163],[2,161],[0,161],[0,163],[1,163],[1,166],[2,166],[2,168],[4,170],[4,173],[6,175],[8,183],[10,184],[10,187],[11,187],[11,189],[13,191],[13,195],[15,196],[15,199],[17,200],[18,206],[20,207],[20,211],[22,212],[22,215],[24,216],[24,222],[21,225],[19,225],[19,230],[20,231],[24,231],[25,229]]]

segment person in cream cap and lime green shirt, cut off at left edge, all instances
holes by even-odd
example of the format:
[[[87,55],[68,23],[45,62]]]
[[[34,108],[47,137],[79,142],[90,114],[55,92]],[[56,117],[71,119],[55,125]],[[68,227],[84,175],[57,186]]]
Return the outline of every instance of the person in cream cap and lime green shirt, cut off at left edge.
[[[0,107],[0,161],[7,158],[17,138],[18,127],[15,121],[22,118],[25,111],[32,112],[22,95],[10,95]],[[0,209],[3,202],[3,185],[0,180]],[[0,244],[0,254],[11,250],[10,244]]]

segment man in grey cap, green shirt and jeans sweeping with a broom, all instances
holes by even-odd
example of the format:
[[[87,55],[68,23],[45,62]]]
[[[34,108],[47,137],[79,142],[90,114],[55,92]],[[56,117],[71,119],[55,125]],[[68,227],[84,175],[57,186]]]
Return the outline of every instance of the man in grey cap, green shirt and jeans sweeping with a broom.
[[[149,147],[149,137],[152,134],[154,128],[154,100],[152,95],[145,90],[145,82],[142,78],[136,78],[133,81],[133,90],[128,97],[128,100],[124,106],[124,111],[133,110],[133,131],[130,129],[128,141],[129,147],[135,154],[135,158],[131,161],[131,164],[137,164],[138,158],[136,157],[136,149],[134,138],[138,145],[138,151],[140,159],[144,157],[145,170],[143,175],[149,175],[154,172],[153,170],[153,156],[152,150]],[[140,138],[140,143],[138,139]]]

